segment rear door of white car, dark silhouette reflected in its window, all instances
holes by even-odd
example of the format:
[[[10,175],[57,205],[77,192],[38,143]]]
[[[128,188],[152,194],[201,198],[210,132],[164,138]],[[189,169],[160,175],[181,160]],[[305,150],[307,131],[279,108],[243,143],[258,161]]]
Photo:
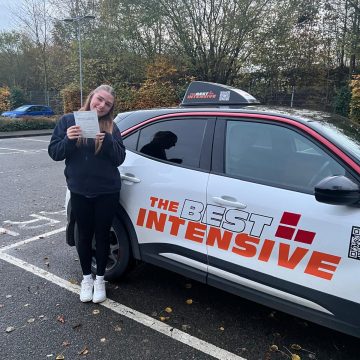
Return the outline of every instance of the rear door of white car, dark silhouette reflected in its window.
[[[124,138],[121,205],[134,225],[141,258],[205,282],[206,203],[215,120],[148,122]]]

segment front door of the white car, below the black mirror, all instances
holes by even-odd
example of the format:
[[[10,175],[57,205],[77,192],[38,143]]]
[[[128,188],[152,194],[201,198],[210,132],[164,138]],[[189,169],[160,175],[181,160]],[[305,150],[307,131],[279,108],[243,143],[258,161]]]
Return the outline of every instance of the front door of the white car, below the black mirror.
[[[360,326],[360,209],[316,201],[350,169],[296,127],[219,118],[206,214],[209,283],[310,320]],[[314,313],[315,312],[315,313]],[[340,325],[342,326],[342,325]]]

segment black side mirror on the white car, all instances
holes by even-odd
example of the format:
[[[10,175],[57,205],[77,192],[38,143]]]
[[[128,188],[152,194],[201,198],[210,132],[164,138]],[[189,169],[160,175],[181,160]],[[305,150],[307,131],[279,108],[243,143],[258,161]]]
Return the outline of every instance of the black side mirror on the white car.
[[[360,188],[346,176],[328,176],[315,186],[315,198],[325,204],[355,205],[360,201]]]

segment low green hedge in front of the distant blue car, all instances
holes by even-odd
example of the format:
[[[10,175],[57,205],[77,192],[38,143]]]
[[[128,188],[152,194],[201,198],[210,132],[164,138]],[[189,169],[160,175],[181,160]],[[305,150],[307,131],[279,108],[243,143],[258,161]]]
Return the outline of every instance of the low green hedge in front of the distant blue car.
[[[0,132],[53,129],[55,127],[56,121],[56,116],[23,117],[15,119],[0,117]]]

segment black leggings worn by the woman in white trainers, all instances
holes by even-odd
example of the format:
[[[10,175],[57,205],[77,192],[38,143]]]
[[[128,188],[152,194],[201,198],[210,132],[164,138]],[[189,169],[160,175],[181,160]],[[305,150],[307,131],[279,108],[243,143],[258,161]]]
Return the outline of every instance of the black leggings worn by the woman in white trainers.
[[[91,274],[92,239],[95,234],[96,274],[103,276],[110,250],[110,228],[119,192],[87,198],[71,193],[71,208],[79,229],[78,254],[84,275]]]

